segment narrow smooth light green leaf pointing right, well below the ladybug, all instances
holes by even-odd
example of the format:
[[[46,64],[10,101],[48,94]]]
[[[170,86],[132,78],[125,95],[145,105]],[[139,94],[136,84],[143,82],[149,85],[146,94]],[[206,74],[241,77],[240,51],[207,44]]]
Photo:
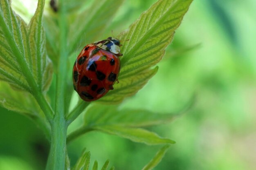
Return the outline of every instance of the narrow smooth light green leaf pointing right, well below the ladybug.
[[[107,132],[112,135],[124,137],[134,142],[144,143],[147,145],[158,144],[175,144],[175,141],[159,137],[156,133],[141,128],[128,128],[125,126],[103,125],[94,126],[94,129]]]

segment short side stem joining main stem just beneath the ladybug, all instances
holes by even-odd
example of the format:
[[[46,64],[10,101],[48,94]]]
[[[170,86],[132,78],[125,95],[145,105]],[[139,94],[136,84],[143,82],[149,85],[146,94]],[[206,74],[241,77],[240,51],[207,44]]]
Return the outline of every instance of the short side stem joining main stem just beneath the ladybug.
[[[67,124],[71,124],[72,121],[74,121],[82,112],[85,110],[85,108],[90,104],[90,102],[79,102],[76,107],[70,112],[69,115],[67,115]]]

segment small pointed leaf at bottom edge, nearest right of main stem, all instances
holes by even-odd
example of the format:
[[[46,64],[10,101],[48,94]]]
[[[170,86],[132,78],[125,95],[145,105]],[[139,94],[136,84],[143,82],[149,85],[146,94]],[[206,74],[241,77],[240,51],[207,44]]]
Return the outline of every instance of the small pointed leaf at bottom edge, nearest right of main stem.
[[[72,170],[88,170],[90,159],[90,152],[84,151]]]

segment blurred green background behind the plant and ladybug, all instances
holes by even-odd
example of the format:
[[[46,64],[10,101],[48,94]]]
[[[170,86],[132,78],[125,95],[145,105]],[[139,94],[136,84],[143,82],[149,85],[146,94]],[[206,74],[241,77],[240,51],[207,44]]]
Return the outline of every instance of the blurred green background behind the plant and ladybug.
[[[128,28],[154,2],[126,0],[105,37]],[[29,10],[17,0],[13,7],[31,17],[36,1],[23,3]],[[194,0],[158,73],[121,104],[175,113],[196,95],[186,114],[150,129],[177,142],[155,170],[256,169],[255,9],[255,0]],[[68,145],[72,163],[85,147],[100,166],[110,159],[116,170],[141,170],[160,146],[90,132]],[[48,150],[43,132],[31,120],[0,108],[0,170],[43,170]]]

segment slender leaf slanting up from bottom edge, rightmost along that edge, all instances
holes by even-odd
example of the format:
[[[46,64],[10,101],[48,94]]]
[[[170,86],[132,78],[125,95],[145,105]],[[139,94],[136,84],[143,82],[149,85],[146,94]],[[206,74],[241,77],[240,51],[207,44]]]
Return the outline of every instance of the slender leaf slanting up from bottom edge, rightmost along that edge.
[[[155,155],[155,157],[146,165],[144,166],[144,168],[142,170],[152,170],[153,168],[155,168],[158,163],[161,162],[162,158],[164,157],[166,151],[170,148],[170,145],[165,145],[164,147],[162,147],[157,154]]]

